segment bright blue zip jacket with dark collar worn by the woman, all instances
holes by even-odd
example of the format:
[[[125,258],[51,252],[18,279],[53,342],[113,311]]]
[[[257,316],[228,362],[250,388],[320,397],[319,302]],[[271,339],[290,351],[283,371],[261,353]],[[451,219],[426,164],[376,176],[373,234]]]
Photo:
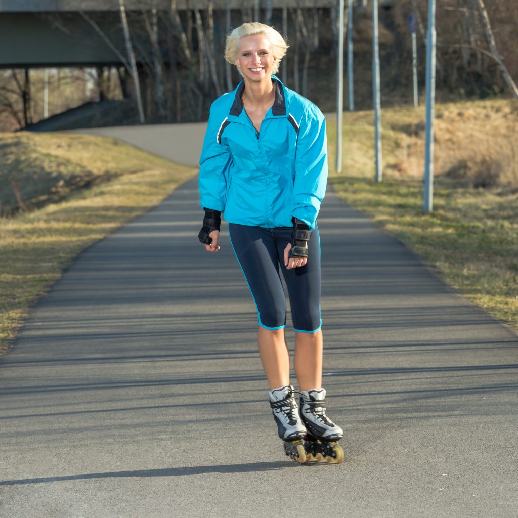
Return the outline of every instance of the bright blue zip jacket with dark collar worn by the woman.
[[[244,81],[210,108],[200,157],[200,204],[229,223],[314,228],[327,182],[325,119],[308,99],[276,83],[257,132],[243,108]]]

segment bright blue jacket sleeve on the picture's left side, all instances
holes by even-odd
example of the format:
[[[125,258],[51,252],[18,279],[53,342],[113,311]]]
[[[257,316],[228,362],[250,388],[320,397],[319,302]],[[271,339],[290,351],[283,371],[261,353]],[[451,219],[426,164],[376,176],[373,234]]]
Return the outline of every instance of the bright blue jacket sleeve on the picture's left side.
[[[220,120],[221,119],[221,120]],[[225,117],[218,117],[211,107],[207,132],[199,159],[198,188],[200,204],[208,209],[225,210],[229,169],[232,154],[226,143],[221,143]]]

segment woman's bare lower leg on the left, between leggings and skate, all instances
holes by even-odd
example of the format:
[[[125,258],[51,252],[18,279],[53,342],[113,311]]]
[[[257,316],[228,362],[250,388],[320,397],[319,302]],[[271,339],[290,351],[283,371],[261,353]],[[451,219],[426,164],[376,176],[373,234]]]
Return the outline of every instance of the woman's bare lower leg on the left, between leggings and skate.
[[[257,344],[270,390],[289,385],[290,353],[284,340],[284,329],[272,331],[260,326]]]

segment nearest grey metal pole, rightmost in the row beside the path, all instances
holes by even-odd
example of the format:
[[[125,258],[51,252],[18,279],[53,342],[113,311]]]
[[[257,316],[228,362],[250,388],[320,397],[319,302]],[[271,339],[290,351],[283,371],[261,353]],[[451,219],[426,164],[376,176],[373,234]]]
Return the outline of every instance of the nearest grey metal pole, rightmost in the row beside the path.
[[[426,140],[424,155],[423,211],[434,206],[434,112],[435,112],[435,0],[428,0],[428,35],[426,46]]]

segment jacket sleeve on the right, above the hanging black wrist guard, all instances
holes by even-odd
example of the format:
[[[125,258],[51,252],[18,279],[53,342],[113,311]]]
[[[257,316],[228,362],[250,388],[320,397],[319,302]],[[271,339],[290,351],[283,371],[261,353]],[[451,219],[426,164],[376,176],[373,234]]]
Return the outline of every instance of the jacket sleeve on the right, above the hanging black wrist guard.
[[[295,155],[292,215],[314,229],[327,184],[325,119],[318,108],[305,110]]]

